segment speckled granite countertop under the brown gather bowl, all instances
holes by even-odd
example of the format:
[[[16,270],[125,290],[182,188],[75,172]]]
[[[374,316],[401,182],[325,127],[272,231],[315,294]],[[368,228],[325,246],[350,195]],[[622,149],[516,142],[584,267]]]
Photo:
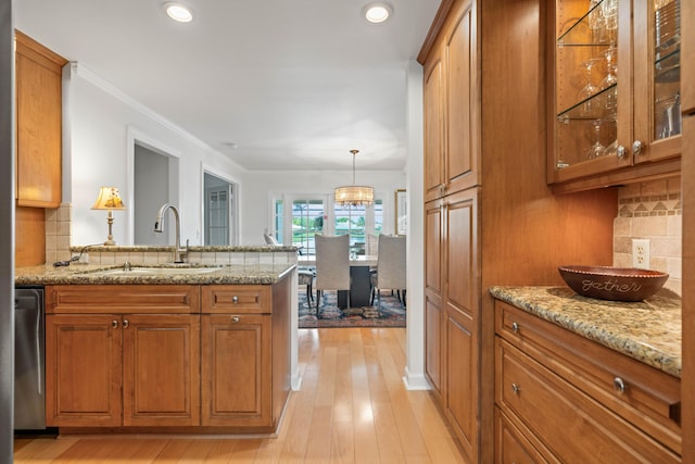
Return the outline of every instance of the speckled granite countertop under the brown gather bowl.
[[[590,340],[681,376],[681,298],[667,289],[640,302],[584,298],[568,287],[491,287],[490,293]]]

